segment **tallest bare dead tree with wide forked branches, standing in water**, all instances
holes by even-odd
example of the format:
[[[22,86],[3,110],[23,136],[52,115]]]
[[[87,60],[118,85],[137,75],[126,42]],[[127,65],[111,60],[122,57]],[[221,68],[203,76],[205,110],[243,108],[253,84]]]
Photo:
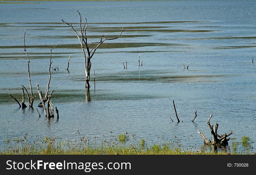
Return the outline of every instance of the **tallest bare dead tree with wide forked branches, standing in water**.
[[[77,11],[79,16],[80,16],[80,31],[79,34],[81,35],[81,38],[79,37],[77,31],[74,29],[74,27],[72,26],[72,24],[65,22],[63,19],[61,19],[61,21],[65,24],[67,24],[68,26],[70,26],[77,38],[79,39],[80,45],[81,45],[81,49],[83,52],[83,57],[84,57],[84,69],[85,69],[85,76],[86,76],[86,84],[85,87],[86,89],[90,88],[90,69],[91,69],[91,61],[90,59],[93,57],[95,51],[97,50],[97,48],[99,48],[99,46],[106,40],[113,40],[113,39],[118,39],[120,37],[120,35],[122,34],[122,32],[124,31],[124,28],[122,28],[122,32],[115,38],[104,38],[105,35],[102,35],[102,37],[100,38],[99,42],[92,42],[91,44],[88,45],[87,42],[87,35],[86,35],[86,29],[88,28],[88,23],[87,23],[87,19],[85,18],[85,24],[83,25],[82,28],[82,17],[79,11]],[[104,39],[103,39],[104,38]],[[92,46],[92,48],[90,49],[90,46]],[[85,49],[87,51],[87,57],[86,57],[86,53],[85,53]]]

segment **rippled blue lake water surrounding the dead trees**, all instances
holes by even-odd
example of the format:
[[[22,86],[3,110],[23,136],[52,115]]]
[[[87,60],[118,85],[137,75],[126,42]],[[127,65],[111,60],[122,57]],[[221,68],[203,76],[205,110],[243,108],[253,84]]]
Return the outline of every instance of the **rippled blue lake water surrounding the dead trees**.
[[[61,19],[79,26],[87,18],[88,42],[106,33],[106,41],[91,59],[90,97],[86,95],[84,59],[79,40]],[[202,131],[208,139],[211,124],[218,133],[233,131],[239,149],[241,137],[256,140],[256,1],[29,1],[0,3],[0,145],[4,138],[81,136],[101,142],[110,131],[117,137],[128,132],[127,145],[145,139],[148,145],[179,142],[184,149],[200,150]],[[34,109],[19,108],[21,86],[29,89],[27,53]],[[36,81],[48,81],[53,50],[51,101],[60,118],[47,119],[39,108]],[[143,66],[138,66],[138,53]],[[65,70],[70,57],[69,72]],[[128,68],[122,63],[127,61]],[[182,63],[189,65],[184,69]],[[94,89],[93,72],[96,88]],[[25,99],[28,106],[28,101]],[[173,100],[179,119],[177,123]],[[191,122],[195,116],[195,122]],[[170,117],[174,120],[172,122]],[[7,133],[8,131],[8,133]],[[234,140],[230,140],[230,145]],[[255,149],[252,150],[253,152]]]

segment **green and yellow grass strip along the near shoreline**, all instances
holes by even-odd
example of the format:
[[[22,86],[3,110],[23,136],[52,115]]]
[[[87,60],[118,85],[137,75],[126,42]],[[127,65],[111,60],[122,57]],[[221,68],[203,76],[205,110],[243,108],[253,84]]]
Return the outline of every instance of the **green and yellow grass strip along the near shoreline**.
[[[0,155],[237,155],[242,152],[231,151],[229,148],[212,151],[211,149],[186,150],[182,146],[172,145],[168,142],[154,144],[149,146],[144,139],[137,145],[125,145],[128,140],[127,134],[125,140],[114,138],[111,134],[109,140],[102,140],[97,144],[96,141],[90,141],[89,138],[82,137],[80,131],[77,131],[79,138],[75,141],[57,140],[56,137],[45,138],[36,136],[36,140],[30,140],[28,133],[24,138],[6,138]],[[134,136],[133,136],[134,137]],[[250,154],[246,151],[244,154]]]

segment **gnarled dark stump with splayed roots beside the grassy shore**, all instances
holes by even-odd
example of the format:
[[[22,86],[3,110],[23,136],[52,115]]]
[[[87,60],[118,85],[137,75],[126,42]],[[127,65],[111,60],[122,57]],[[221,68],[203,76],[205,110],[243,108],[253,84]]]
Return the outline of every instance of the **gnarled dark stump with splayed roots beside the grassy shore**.
[[[231,134],[233,134],[233,131],[231,131],[229,134],[224,133],[221,136],[218,135],[217,131],[218,131],[219,124],[216,123],[214,130],[213,130],[213,125],[210,124],[211,117],[212,117],[212,113],[211,113],[209,119],[207,120],[207,125],[209,126],[209,128],[211,130],[211,134],[213,135],[212,141],[208,140],[201,131],[197,131],[197,132],[204,139],[204,143],[209,146],[213,145],[214,150],[216,151],[218,147],[226,147],[228,145],[228,141],[230,138],[227,138],[227,137],[230,136]]]

